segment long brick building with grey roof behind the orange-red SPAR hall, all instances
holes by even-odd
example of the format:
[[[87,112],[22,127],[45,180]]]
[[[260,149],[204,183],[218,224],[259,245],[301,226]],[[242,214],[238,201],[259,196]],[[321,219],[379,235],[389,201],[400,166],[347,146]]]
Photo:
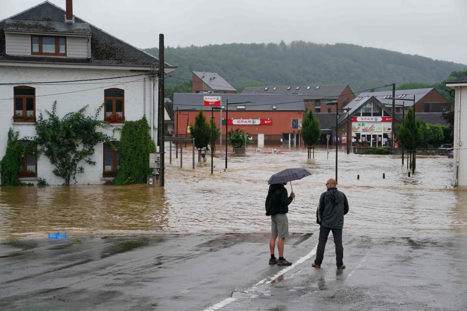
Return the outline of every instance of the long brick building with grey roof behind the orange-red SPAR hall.
[[[242,94],[302,94],[305,110],[311,107],[315,113],[336,113],[336,105],[326,104],[337,101],[338,109],[342,109],[355,98],[345,84],[245,87]]]

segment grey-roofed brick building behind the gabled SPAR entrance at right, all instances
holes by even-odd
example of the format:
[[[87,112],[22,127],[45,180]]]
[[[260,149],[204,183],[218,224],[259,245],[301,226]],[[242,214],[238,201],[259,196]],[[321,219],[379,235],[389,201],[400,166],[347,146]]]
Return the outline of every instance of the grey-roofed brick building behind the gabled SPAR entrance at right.
[[[393,92],[391,90],[360,93],[346,107],[352,108],[354,105],[358,105],[362,100],[365,100],[365,98],[371,96],[377,98],[378,101],[392,109],[392,100],[390,98],[393,96]],[[441,113],[452,109],[452,104],[450,104],[435,88],[430,87],[395,91],[395,112],[402,113],[402,104],[404,104],[405,111],[407,111],[409,107],[412,107],[413,101],[404,101],[404,99],[413,99],[413,96],[415,96],[415,113]]]

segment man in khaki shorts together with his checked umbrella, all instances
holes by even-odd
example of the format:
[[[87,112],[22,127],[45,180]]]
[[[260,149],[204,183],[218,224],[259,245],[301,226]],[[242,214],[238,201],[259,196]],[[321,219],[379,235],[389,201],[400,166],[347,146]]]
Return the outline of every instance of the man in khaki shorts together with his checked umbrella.
[[[284,258],[284,242],[288,237],[288,205],[292,202],[293,198],[295,198],[295,193],[292,190],[290,196],[288,196],[287,189],[284,186],[287,185],[289,181],[302,179],[309,175],[311,175],[311,172],[305,168],[292,168],[275,173],[269,178],[268,184],[270,186],[268,196],[266,197],[266,204],[271,200],[271,203],[279,205],[277,213],[266,213],[266,215],[271,215],[271,239],[269,240],[271,258],[269,259],[269,264],[277,263],[280,266],[290,266],[292,264]],[[290,188],[291,187],[292,183],[290,183]],[[279,237],[279,241],[277,242],[279,259],[276,259],[274,255],[277,237]]]

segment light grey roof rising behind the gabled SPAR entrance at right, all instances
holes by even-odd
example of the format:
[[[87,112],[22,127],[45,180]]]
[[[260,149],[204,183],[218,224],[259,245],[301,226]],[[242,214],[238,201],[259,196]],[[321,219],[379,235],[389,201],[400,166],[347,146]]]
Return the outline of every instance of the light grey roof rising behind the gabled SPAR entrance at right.
[[[431,90],[433,90],[433,87],[430,88],[414,88],[414,89],[403,89],[403,90],[397,90],[395,91],[395,97],[397,98],[398,96],[404,96],[401,99],[396,99],[395,104],[400,104],[402,105],[402,102],[404,102],[404,105],[406,107],[411,107],[413,106],[413,101],[407,101],[404,99],[413,99],[413,95],[415,95],[415,102],[418,103],[425,95],[427,95]],[[360,93],[356,98],[354,98],[353,101],[351,101],[349,104],[347,104],[345,107],[353,108],[355,105],[358,105],[359,102],[362,100],[365,100],[365,98],[369,98],[371,96],[376,97],[379,102],[391,106],[393,104],[393,101],[391,99],[384,99],[386,96],[391,96],[393,95],[393,91],[380,91],[380,92],[364,92]],[[363,97],[361,100],[358,100],[360,97]],[[446,101],[448,103],[448,101]]]

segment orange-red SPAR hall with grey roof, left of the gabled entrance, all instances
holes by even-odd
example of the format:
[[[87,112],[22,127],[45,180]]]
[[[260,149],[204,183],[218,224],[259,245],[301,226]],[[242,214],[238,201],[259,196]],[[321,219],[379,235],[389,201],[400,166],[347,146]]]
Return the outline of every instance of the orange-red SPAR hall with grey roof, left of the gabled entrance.
[[[203,105],[206,94],[174,93],[175,130],[179,137],[189,137],[188,127],[195,122],[199,109],[206,118],[212,108]],[[225,124],[229,131],[240,128],[250,133],[253,140],[264,137],[265,143],[298,146],[301,141],[301,125],[304,108],[303,98],[297,94],[223,94],[222,121],[220,111],[214,110],[217,125],[222,124],[225,139]],[[226,100],[229,104],[229,119],[226,121]],[[225,140],[223,140],[225,141]]]

